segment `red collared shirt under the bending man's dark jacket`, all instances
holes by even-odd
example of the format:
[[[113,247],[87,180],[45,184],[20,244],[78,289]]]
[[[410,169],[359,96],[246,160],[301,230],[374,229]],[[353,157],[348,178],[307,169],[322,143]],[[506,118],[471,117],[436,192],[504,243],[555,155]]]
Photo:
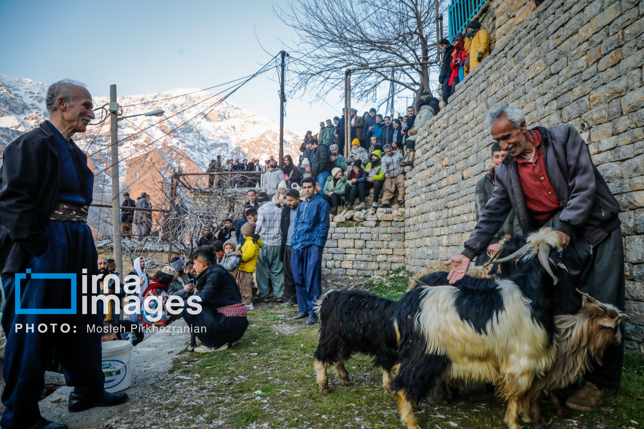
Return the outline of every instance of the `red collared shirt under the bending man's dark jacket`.
[[[562,204],[554,193],[554,188],[545,171],[541,133],[531,129],[529,131],[535,138],[535,157],[532,162],[520,156],[516,157],[515,161],[521,189],[526,196],[527,210],[538,224],[543,225],[554,213],[562,209]]]

